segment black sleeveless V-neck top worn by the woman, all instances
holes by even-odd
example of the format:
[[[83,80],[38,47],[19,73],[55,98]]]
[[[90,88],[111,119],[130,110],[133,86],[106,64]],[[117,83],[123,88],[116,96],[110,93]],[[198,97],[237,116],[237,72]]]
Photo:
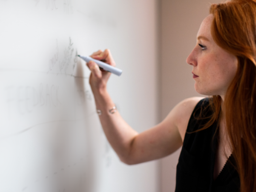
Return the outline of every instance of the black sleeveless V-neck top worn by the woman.
[[[229,157],[219,176],[214,180],[214,161],[218,140],[214,133],[217,123],[203,131],[190,133],[203,127],[209,120],[198,120],[212,114],[208,98],[197,103],[189,119],[187,132],[177,165],[175,192],[238,192],[240,179],[234,166],[233,155]],[[216,133],[216,135],[218,132]],[[233,166],[233,165],[234,166]]]

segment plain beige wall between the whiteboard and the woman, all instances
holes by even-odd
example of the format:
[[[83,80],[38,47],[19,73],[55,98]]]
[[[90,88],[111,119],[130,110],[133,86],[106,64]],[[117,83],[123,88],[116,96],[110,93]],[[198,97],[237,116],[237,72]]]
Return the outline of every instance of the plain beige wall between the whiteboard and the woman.
[[[202,96],[194,90],[192,67],[186,59],[196,45],[197,31],[209,7],[208,0],[161,0],[161,120],[183,99]],[[180,150],[161,160],[162,192],[175,189],[179,154]]]

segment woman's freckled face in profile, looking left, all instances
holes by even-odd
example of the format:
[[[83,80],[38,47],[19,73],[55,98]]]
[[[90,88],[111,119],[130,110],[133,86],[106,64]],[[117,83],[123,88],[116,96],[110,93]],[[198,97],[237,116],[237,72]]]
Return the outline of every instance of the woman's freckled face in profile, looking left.
[[[221,95],[236,75],[237,57],[219,47],[211,35],[214,16],[208,15],[197,33],[197,43],[189,54],[187,63],[193,66],[195,90],[203,95]]]

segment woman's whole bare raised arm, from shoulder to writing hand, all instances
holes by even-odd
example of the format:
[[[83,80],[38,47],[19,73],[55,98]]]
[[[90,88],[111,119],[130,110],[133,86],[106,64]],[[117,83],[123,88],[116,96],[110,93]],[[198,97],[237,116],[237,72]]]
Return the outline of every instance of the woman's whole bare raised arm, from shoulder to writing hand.
[[[104,52],[99,50],[91,57],[115,66],[108,49]],[[139,134],[123,120],[118,111],[113,114],[109,112],[114,106],[106,90],[110,73],[101,71],[93,61],[87,63],[87,66],[91,70],[90,85],[96,108],[101,110],[99,119],[103,131],[121,161],[131,165],[159,159],[182,145],[191,113],[202,98],[185,99],[172,109],[165,120]]]

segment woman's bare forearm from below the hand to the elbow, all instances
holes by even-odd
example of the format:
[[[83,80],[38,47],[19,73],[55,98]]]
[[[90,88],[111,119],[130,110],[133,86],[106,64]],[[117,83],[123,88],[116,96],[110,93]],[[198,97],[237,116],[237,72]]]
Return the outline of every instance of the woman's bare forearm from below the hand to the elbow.
[[[121,161],[129,162],[133,141],[138,133],[123,120],[118,111],[113,114],[109,112],[114,103],[106,89],[94,90],[93,93],[96,108],[101,110],[99,120],[109,143]]]

